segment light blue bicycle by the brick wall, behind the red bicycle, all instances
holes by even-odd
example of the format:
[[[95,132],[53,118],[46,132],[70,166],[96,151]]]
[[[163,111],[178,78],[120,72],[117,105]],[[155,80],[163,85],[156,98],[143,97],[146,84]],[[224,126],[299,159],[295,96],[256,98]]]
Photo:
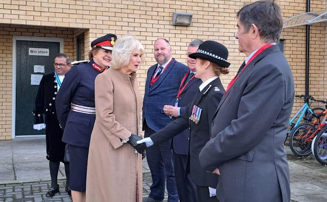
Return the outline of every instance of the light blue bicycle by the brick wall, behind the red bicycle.
[[[309,100],[312,101],[316,101],[316,102],[322,102],[324,104],[326,104],[326,101],[323,100],[316,100],[314,97],[312,96],[306,96],[306,95],[296,95],[296,98],[303,98],[303,100],[305,100],[305,104],[303,104],[303,106],[297,111],[297,113],[294,115],[294,117],[292,119],[290,119],[289,121],[289,130],[287,131],[286,134],[286,138],[284,143],[287,141],[287,138],[289,136],[289,134],[292,132],[292,129],[296,126],[298,126],[303,118],[303,116],[305,116],[305,114],[308,114],[308,117],[310,117],[313,113],[322,113],[325,109],[321,108],[321,107],[315,107],[313,109],[310,108]],[[327,108],[327,105],[326,105]],[[294,120],[297,118],[297,121],[295,123]],[[308,122],[308,121],[306,121]]]

